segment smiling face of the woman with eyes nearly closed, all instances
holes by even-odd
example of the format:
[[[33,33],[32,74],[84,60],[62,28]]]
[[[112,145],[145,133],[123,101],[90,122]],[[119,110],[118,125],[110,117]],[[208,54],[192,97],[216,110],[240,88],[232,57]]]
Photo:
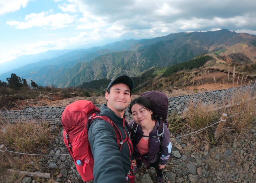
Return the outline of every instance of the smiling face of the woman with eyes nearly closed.
[[[131,108],[131,111],[135,123],[141,126],[146,126],[148,123],[152,121],[151,115],[153,112],[146,110],[140,104],[134,104]]]

